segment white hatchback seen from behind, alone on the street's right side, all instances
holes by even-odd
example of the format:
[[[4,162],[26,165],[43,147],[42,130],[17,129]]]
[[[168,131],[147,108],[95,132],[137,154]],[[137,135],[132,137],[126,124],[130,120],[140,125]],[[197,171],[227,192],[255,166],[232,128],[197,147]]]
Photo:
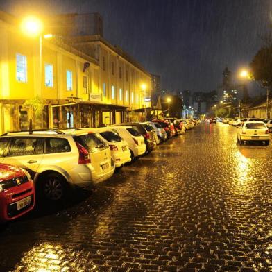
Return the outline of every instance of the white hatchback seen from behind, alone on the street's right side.
[[[269,145],[269,129],[262,121],[248,121],[239,128],[237,142],[244,144],[245,141],[260,141]]]

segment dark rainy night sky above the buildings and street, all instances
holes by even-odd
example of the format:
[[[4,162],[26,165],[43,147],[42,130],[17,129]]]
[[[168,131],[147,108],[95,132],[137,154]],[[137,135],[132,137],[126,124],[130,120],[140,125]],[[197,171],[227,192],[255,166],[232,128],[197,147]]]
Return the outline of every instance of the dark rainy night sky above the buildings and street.
[[[226,65],[237,81],[272,29],[272,0],[0,0],[0,8],[16,16],[99,12],[105,39],[175,91],[216,89]]]

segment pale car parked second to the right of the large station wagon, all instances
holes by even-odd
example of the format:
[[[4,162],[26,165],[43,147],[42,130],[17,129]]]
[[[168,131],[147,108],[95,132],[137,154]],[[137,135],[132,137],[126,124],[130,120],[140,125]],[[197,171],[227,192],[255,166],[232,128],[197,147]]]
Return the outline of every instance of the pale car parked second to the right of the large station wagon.
[[[146,152],[146,145],[144,144],[144,137],[131,126],[112,126],[127,143],[130,149],[131,160],[144,155]]]

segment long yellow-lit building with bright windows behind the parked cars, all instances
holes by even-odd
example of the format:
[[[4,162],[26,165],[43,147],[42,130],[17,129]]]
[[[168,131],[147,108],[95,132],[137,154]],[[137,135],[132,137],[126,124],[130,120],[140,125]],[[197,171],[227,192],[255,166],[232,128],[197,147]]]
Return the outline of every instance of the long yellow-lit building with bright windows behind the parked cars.
[[[88,38],[82,46],[56,37],[26,37],[4,12],[0,35],[0,133],[27,130],[31,114],[24,103],[35,98],[44,109],[42,117],[32,117],[34,128],[144,119],[151,77],[105,40]]]

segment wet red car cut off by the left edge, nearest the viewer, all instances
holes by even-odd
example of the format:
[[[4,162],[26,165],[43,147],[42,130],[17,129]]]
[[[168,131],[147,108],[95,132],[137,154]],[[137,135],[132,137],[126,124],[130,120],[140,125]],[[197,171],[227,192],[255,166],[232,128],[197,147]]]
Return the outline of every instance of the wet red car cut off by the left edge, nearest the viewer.
[[[35,205],[35,189],[29,173],[0,163],[0,222],[16,219]]]

